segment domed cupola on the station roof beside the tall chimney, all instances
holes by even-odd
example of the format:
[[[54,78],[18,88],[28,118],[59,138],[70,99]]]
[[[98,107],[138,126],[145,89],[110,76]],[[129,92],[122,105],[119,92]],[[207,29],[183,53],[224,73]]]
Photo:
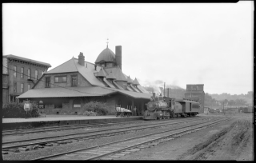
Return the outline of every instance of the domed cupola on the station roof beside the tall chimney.
[[[98,55],[95,64],[98,66],[113,67],[115,66],[115,62],[116,61],[114,52],[106,47],[106,49]]]

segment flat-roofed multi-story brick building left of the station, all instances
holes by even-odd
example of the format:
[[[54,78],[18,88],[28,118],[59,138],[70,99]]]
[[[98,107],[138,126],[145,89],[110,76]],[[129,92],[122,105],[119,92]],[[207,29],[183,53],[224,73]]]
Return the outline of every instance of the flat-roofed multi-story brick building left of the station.
[[[31,89],[49,67],[49,63],[12,54],[2,56],[2,103],[16,101],[16,97]]]

